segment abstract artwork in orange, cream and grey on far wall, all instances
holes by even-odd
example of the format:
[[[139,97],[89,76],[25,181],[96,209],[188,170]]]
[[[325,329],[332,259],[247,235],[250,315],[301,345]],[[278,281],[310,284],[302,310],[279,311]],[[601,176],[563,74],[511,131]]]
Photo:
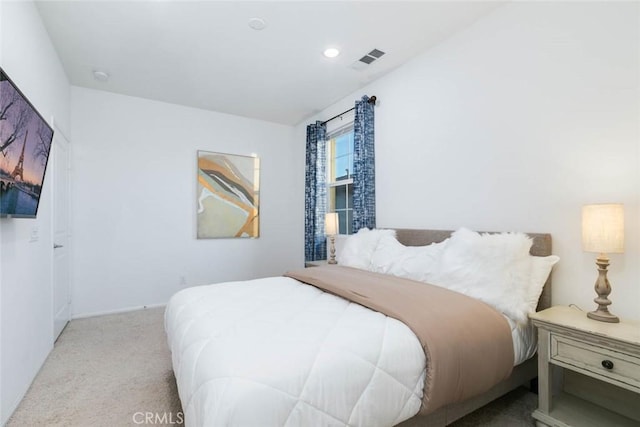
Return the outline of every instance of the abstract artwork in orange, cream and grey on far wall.
[[[260,236],[260,159],[198,151],[198,239]]]

